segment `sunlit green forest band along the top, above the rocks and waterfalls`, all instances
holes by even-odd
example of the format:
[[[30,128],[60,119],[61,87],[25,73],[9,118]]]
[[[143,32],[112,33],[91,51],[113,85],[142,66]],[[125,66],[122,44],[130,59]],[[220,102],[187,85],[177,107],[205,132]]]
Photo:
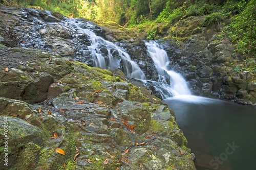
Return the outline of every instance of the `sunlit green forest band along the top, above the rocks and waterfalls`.
[[[114,21],[126,28],[147,31],[147,39],[158,37],[157,23],[168,29],[189,16],[207,15],[202,26],[218,23],[222,29],[219,39],[228,39],[237,52],[254,56],[256,46],[255,0],[1,0],[16,7],[40,6],[68,17],[83,17],[98,21]],[[99,23],[99,22],[98,22]]]

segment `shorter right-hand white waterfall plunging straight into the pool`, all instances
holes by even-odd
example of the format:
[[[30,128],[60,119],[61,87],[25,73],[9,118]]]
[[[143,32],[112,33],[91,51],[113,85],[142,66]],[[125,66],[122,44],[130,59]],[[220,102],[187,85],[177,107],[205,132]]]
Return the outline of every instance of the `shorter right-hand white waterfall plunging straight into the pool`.
[[[170,61],[166,52],[155,41],[145,42],[145,44],[147,46],[147,52],[157,68],[159,80],[161,80],[158,84],[156,82],[153,83],[156,86],[155,88],[159,91],[161,90],[165,98],[177,95],[191,95],[185,79],[177,72],[167,68]],[[167,84],[165,80],[164,71],[167,72],[170,78],[170,84]]]

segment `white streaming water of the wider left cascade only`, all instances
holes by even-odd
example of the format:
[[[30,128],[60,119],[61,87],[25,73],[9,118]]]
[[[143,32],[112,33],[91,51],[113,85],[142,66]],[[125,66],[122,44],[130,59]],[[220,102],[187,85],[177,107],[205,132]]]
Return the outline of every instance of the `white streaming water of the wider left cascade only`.
[[[69,18],[67,18],[69,19]],[[76,36],[79,35],[88,35],[88,39],[91,42],[91,45],[88,46],[89,50],[92,53],[92,56],[94,58],[94,66],[100,67],[104,69],[108,68],[118,68],[119,62],[123,65],[123,71],[127,77],[145,80],[146,77],[140,67],[131,60],[131,57],[129,54],[127,54],[122,48],[116,46],[110,41],[106,41],[103,38],[97,36],[94,32],[91,31],[91,29],[94,28],[93,25],[90,23],[84,23],[80,22],[76,19],[69,19],[69,22],[72,24],[72,29],[75,29]],[[84,29],[81,28],[81,25],[87,25],[88,28],[91,29]],[[106,48],[108,50],[108,54],[106,56],[102,56],[100,52],[100,48]],[[120,59],[114,58],[113,55],[110,52],[110,49],[114,49],[118,52],[118,56],[120,56]],[[121,61],[120,61],[121,60]]]

